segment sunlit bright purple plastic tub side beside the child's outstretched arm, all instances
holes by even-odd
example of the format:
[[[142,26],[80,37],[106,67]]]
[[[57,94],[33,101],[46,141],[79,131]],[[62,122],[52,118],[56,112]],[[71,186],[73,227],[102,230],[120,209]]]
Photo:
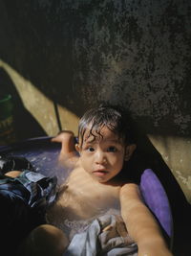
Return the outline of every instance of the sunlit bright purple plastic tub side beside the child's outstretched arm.
[[[172,237],[173,221],[170,204],[158,176],[151,169],[146,169],[141,175],[140,192],[162,228],[169,237]]]

